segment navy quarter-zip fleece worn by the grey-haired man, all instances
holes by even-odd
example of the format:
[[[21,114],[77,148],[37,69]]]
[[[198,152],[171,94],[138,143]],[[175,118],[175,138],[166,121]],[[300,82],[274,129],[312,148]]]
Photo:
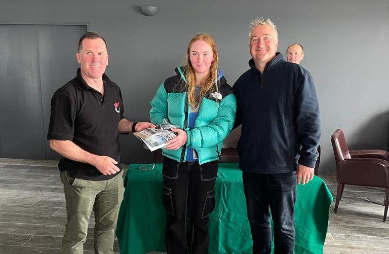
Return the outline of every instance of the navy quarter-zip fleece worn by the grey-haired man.
[[[251,67],[234,84],[239,166],[245,172],[277,174],[297,164],[315,167],[321,124],[319,101],[309,71],[287,62],[281,53],[263,74]]]

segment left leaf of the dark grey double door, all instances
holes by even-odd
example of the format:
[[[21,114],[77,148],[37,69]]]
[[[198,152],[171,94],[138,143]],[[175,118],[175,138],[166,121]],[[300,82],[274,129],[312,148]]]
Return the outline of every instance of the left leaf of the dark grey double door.
[[[45,158],[33,25],[0,25],[0,157]]]

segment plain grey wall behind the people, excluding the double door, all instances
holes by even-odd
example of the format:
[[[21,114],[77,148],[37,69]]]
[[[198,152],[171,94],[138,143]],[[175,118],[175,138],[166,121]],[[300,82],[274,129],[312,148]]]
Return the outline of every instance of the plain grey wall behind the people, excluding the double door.
[[[158,13],[141,15],[145,4],[157,5]],[[344,129],[350,148],[387,148],[388,7],[386,0],[26,0],[2,1],[0,23],[89,22],[108,42],[107,74],[122,88],[126,117],[147,120],[149,100],[183,62],[193,34],[214,35],[234,84],[248,68],[250,20],[270,17],[279,26],[281,52],[293,42],[304,45],[302,65],[315,79],[322,112],[321,173],[334,173],[329,137],[336,128]],[[124,162],[151,160],[131,135],[122,137],[122,147]]]

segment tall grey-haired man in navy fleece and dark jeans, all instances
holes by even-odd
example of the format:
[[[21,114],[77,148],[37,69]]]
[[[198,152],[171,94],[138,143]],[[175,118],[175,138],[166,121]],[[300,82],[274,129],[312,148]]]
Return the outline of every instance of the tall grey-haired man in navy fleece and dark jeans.
[[[253,238],[253,253],[293,253],[297,183],[314,176],[320,113],[309,71],[277,51],[277,28],[257,18],[250,29],[250,69],[235,83],[236,126],[242,124],[239,166]]]

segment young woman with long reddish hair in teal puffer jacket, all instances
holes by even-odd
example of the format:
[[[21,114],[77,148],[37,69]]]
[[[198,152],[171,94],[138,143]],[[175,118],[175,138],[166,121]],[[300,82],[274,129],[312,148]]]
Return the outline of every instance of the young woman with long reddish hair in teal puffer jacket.
[[[209,214],[224,138],[235,121],[236,98],[218,68],[210,34],[197,34],[186,62],[177,67],[151,100],[150,119],[180,126],[163,149],[164,205],[168,253],[208,253]],[[190,228],[186,228],[186,215]]]

